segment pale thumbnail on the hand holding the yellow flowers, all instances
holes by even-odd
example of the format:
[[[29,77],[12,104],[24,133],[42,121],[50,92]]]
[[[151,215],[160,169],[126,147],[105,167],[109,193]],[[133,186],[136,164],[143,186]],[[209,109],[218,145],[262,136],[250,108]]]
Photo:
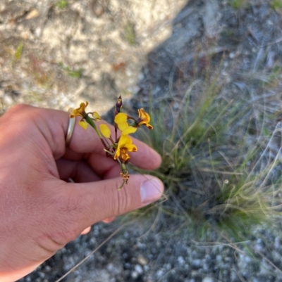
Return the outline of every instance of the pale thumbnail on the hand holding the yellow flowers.
[[[140,193],[143,204],[152,203],[161,197],[164,186],[157,179],[148,179],[141,184]]]

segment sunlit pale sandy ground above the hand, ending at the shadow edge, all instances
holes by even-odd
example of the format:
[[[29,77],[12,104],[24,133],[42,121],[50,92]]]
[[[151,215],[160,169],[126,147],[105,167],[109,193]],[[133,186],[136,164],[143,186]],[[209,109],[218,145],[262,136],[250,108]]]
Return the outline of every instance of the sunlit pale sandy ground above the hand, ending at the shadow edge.
[[[142,65],[169,36],[181,1],[0,2],[0,110],[30,103],[106,113],[137,91]]]

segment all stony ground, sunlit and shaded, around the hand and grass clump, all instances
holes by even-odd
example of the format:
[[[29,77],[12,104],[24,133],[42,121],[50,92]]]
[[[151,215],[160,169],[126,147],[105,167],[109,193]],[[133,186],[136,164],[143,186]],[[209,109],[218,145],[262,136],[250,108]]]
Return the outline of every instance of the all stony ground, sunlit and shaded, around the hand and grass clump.
[[[160,101],[178,108],[212,65],[221,96],[245,99],[254,115],[281,117],[282,18],[274,1],[2,2],[2,112],[23,102],[66,110],[86,99],[106,113],[119,94],[131,97],[128,109]],[[20,282],[56,281],[87,255],[62,281],[282,281],[282,236],[265,226],[245,242],[253,256],[212,231],[200,243],[189,226],[152,212],[91,255],[122,224],[96,224]]]

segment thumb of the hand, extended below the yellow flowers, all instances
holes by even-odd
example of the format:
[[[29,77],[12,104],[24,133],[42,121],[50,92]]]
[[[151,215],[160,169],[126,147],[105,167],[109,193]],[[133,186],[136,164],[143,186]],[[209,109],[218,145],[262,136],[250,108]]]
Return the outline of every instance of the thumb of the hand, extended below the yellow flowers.
[[[115,217],[144,207],[158,200],[164,193],[164,184],[159,179],[140,174],[131,175],[128,185],[119,191],[120,177],[91,183],[68,183],[66,186],[66,191],[71,193],[66,203],[68,207],[73,205],[73,210],[76,210],[75,219],[80,223],[80,232],[106,217]],[[71,217],[73,219],[73,212]]]

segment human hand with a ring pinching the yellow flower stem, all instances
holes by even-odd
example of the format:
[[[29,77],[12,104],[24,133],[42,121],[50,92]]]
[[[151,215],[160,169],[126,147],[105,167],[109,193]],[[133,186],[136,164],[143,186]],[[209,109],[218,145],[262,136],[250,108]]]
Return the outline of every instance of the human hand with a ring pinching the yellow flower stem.
[[[87,226],[152,203],[164,191],[159,179],[138,174],[117,191],[121,167],[106,158],[93,130],[76,124],[66,148],[68,119],[63,111],[29,105],[16,105],[0,118],[2,282],[29,274]],[[134,143],[134,165],[159,167],[154,150]]]

